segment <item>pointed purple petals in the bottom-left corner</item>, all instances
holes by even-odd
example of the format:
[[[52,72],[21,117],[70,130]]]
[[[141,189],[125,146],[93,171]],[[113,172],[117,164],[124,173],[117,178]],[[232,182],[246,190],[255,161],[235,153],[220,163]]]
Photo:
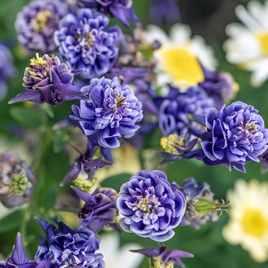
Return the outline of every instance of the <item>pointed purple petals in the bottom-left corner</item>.
[[[12,251],[12,255],[6,261],[0,261],[0,268],[14,268],[14,267],[21,267],[21,268],[45,268],[51,261],[51,258],[41,261],[37,264],[33,260],[29,260],[27,255],[25,254],[22,237],[21,234],[18,232],[15,242],[15,247]]]

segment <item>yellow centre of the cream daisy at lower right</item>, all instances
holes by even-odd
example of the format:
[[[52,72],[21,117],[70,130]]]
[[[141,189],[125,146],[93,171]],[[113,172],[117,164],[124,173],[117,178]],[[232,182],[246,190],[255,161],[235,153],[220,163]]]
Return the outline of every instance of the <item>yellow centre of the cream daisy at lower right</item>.
[[[268,221],[258,209],[247,209],[241,220],[244,232],[256,237],[268,231]]]

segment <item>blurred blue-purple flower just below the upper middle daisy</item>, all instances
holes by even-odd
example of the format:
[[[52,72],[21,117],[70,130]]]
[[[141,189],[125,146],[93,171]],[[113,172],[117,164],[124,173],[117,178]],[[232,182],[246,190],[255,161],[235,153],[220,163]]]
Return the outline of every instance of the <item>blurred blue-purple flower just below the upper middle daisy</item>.
[[[159,107],[159,128],[163,136],[185,135],[186,127],[191,122],[189,114],[205,116],[207,111],[214,107],[213,99],[209,98],[201,87],[190,87],[186,93],[180,93],[177,88],[170,87],[167,97],[157,97],[154,103]]]

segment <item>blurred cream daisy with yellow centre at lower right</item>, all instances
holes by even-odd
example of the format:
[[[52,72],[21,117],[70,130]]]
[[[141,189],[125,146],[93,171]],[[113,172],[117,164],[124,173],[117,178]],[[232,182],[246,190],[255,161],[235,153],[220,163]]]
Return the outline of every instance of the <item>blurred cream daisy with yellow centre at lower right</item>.
[[[231,201],[230,220],[223,228],[223,237],[230,244],[248,251],[252,259],[268,259],[268,183],[238,180],[227,192]]]

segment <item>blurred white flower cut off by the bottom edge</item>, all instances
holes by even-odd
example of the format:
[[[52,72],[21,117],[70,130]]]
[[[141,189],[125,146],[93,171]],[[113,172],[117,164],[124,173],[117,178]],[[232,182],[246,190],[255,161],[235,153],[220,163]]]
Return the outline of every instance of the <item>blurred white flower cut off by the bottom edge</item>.
[[[140,249],[142,246],[136,243],[127,243],[120,247],[119,234],[111,232],[100,236],[100,249],[97,253],[102,253],[106,268],[137,268],[143,255],[129,251],[130,249]]]

